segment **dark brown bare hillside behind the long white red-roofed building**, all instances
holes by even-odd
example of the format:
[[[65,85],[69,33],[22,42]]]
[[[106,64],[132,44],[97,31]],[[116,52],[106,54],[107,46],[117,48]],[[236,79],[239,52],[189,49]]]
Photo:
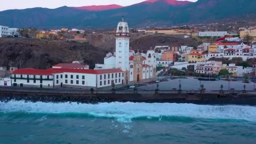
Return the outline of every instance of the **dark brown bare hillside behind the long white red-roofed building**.
[[[0,66],[47,69],[57,63],[84,60],[90,67],[102,63],[105,50],[75,42],[0,38]]]

